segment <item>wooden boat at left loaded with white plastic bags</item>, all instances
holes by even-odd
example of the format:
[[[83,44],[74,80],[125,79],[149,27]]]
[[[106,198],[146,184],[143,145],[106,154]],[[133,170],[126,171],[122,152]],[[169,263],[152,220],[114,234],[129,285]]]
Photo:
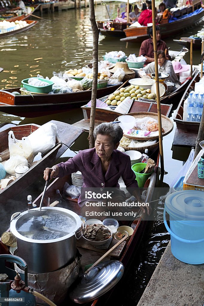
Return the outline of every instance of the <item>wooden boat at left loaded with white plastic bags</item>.
[[[43,154],[42,159],[36,162],[28,171],[26,171],[22,176],[13,181],[10,185],[0,191],[0,209],[2,212],[6,211],[4,216],[5,220],[1,220],[0,228],[2,224],[5,223],[7,228],[9,227],[10,214],[13,210],[21,210],[26,203],[25,199],[18,200],[17,196],[25,190],[29,185],[31,185],[39,174],[43,174],[43,170],[49,164],[53,164],[67,149],[67,146],[73,144],[73,142],[82,134],[83,130],[76,128],[72,125],[62,123],[59,121],[50,121],[57,125],[57,136],[56,145],[48,152]],[[6,129],[0,133],[0,151],[1,153],[8,152],[8,132],[12,130],[16,139],[20,139],[24,136],[28,136],[40,126],[36,124],[28,125],[18,125]],[[67,146],[63,145],[65,143]],[[1,154],[0,154],[1,155]],[[10,176],[10,175],[8,175]],[[14,200],[15,198],[15,200]],[[22,202],[22,203],[21,203]],[[19,206],[16,204],[19,204]]]

